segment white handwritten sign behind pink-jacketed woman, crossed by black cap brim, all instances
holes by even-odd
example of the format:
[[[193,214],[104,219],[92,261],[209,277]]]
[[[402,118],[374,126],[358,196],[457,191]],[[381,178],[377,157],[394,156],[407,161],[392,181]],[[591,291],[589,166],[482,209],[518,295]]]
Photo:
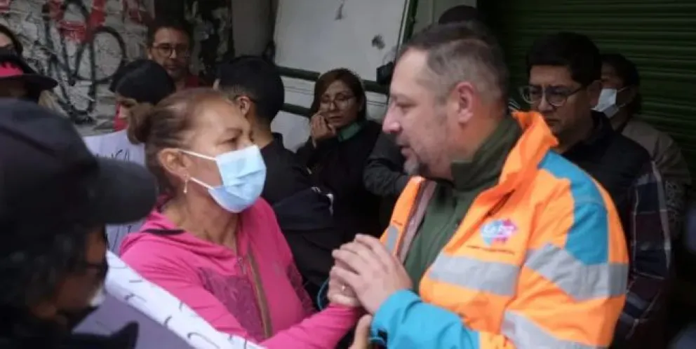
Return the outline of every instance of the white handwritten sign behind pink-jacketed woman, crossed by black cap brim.
[[[145,149],[142,144],[132,144],[126,137],[126,131],[109,133],[107,135],[89,136],[83,138],[87,148],[96,156],[116,160],[131,161],[145,165]],[[128,224],[107,226],[109,249],[118,253],[123,238],[132,231],[138,231],[142,220]]]

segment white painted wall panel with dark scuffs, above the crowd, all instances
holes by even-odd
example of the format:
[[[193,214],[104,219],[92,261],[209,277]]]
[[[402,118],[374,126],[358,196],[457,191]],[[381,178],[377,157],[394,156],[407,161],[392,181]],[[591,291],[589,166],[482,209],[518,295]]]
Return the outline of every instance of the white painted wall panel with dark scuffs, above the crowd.
[[[346,67],[375,80],[399,43],[406,0],[283,0],[275,39],[276,63],[289,68],[328,71]],[[383,44],[373,44],[380,36]]]

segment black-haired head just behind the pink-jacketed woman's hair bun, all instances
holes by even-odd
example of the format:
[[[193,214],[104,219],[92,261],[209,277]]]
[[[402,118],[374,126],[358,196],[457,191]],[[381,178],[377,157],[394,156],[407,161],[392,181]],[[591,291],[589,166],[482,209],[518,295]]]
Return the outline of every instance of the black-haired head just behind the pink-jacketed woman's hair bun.
[[[116,72],[109,90],[116,93],[114,131],[120,131],[135,119],[132,114],[147,112],[175,93],[176,85],[167,70],[156,62],[134,60]],[[133,135],[128,138],[133,142]]]

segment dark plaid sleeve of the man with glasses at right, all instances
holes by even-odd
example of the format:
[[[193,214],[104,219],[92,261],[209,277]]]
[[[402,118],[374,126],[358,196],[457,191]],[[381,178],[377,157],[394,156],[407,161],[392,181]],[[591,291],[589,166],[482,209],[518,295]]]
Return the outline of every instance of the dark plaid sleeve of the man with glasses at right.
[[[655,315],[664,307],[671,235],[664,182],[655,163],[646,164],[631,186],[631,219],[624,231],[630,269],[626,305],[615,333],[617,342],[630,342],[634,334],[650,331],[652,324],[660,322]]]

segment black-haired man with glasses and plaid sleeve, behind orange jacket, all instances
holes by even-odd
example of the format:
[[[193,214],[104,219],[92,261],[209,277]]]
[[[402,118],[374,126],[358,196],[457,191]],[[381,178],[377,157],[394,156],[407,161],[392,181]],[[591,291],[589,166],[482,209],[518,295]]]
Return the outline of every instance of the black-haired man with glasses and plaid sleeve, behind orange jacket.
[[[645,344],[645,336],[660,336],[655,325],[660,327],[670,266],[662,177],[645,149],[592,110],[602,89],[602,62],[587,36],[560,32],[538,39],[527,69],[522,97],[544,116],[558,139],[555,150],[594,177],[620,214],[631,268],[613,348],[660,347]]]

